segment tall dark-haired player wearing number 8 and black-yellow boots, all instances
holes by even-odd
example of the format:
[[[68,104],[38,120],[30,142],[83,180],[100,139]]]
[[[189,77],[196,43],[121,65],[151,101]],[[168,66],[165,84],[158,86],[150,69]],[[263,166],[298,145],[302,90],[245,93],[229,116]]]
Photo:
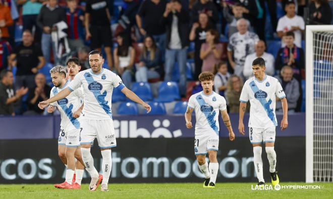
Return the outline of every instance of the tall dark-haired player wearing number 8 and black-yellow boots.
[[[275,116],[276,97],[281,99],[283,119],[281,129],[288,127],[288,105],[286,94],[278,79],[265,74],[265,60],[256,58],[252,62],[254,77],[248,79],[240,96],[239,107],[239,132],[245,135],[243,118],[246,103],[250,101],[249,136],[253,145],[253,162],[259,180],[258,185],[265,183],[262,173],[261,143],[265,143],[265,150],[269,161],[269,172],[272,184],[279,184],[279,176],[276,174],[276,154],[274,151],[275,126],[278,126]]]

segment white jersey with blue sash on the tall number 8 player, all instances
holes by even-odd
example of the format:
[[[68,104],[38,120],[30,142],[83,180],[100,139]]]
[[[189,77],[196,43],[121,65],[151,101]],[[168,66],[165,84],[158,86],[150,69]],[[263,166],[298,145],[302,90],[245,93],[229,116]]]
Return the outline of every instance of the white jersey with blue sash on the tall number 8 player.
[[[275,116],[276,96],[282,99],[286,94],[279,80],[272,76],[265,75],[262,81],[251,77],[245,82],[239,100],[243,103],[250,100],[249,127],[267,129],[278,126]]]

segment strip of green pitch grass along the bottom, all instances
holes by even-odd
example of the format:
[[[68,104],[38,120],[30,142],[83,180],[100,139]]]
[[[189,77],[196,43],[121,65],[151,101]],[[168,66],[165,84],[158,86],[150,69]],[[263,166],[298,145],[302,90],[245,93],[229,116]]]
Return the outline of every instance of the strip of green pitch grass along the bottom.
[[[267,183],[269,185],[270,183]],[[320,189],[252,190],[254,183],[217,183],[214,189],[202,183],[110,183],[108,192],[89,191],[88,184],[79,190],[54,188],[52,184],[0,185],[0,198],[333,198],[333,183],[284,182],[281,185],[320,185]]]

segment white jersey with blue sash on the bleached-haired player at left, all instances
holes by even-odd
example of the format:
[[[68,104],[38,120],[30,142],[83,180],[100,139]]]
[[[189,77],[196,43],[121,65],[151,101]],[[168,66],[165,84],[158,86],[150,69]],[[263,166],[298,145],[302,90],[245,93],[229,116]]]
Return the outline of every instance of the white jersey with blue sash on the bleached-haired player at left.
[[[62,88],[54,86],[51,89],[50,97],[56,95],[64,88],[67,88],[68,85],[69,81],[67,81]],[[67,97],[50,104],[51,106],[58,108],[61,116],[60,126],[66,131],[80,128],[79,118],[74,118],[73,113],[81,107],[82,98],[83,98],[82,89],[77,89],[74,92],[71,92]]]

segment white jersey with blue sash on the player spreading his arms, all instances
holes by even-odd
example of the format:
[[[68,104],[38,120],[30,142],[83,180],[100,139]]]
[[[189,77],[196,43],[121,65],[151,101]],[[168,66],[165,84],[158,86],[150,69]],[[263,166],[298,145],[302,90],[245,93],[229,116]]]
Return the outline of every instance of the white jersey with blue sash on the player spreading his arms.
[[[82,117],[89,120],[112,119],[112,92],[118,86],[120,89],[125,87],[122,79],[105,68],[99,74],[94,74],[91,69],[87,69],[75,75],[68,88],[73,91],[81,85],[84,96]]]

